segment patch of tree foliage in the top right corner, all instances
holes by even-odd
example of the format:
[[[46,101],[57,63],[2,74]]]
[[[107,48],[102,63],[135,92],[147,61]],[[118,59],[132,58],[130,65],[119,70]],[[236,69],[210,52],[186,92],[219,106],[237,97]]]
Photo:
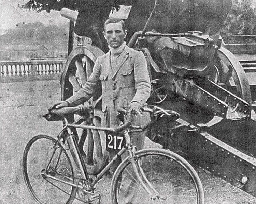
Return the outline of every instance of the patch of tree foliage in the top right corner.
[[[255,0],[233,0],[221,35],[256,35]]]

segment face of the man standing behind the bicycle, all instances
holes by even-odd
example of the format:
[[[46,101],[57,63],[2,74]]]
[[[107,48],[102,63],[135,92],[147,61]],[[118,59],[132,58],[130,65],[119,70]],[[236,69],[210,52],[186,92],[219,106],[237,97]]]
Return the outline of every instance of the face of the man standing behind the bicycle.
[[[112,48],[119,48],[126,37],[127,30],[123,30],[121,22],[106,24],[103,35]]]

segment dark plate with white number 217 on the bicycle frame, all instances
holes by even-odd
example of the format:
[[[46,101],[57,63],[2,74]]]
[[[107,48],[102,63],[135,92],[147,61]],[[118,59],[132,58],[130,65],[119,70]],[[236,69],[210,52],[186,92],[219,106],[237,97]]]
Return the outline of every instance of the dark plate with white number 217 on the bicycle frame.
[[[106,150],[119,152],[125,146],[125,138],[122,133],[106,132]]]

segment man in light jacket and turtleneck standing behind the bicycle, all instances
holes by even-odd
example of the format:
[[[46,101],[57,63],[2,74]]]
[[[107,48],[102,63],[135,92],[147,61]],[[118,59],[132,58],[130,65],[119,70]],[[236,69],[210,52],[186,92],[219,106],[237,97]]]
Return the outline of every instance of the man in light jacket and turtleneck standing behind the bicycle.
[[[145,104],[150,96],[150,79],[147,71],[146,59],[142,52],[129,48],[124,39],[127,30],[124,21],[119,18],[110,18],[104,23],[104,38],[109,45],[109,52],[100,56],[94,65],[93,72],[83,88],[66,101],[62,101],[55,108],[77,106],[87,101],[96,91],[96,83],[101,80],[102,85],[102,111],[106,126],[114,127],[119,124],[118,111],[135,110]],[[143,126],[149,120],[149,115],[138,115],[134,126]],[[137,150],[144,146],[145,132],[131,130],[131,142]],[[114,154],[109,153],[109,159]],[[112,171],[120,163],[120,158],[114,164]]]

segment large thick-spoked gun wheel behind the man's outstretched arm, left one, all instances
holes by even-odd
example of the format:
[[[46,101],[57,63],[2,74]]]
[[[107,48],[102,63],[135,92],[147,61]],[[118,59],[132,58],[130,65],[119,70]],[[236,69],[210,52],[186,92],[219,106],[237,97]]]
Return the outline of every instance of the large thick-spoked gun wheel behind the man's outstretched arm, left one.
[[[88,80],[92,73],[97,57],[103,51],[95,46],[80,46],[72,50],[65,64],[61,76],[61,100],[66,100],[78,91]],[[97,85],[97,94],[93,96],[94,118],[91,125],[101,126],[103,113],[101,111],[100,96],[101,84]],[[79,119],[80,116],[71,116],[69,122]],[[74,130],[79,150],[84,158],[89,174],[97,174],[105,166],[108,153],[105,146],[105,133],[96,130]]]

